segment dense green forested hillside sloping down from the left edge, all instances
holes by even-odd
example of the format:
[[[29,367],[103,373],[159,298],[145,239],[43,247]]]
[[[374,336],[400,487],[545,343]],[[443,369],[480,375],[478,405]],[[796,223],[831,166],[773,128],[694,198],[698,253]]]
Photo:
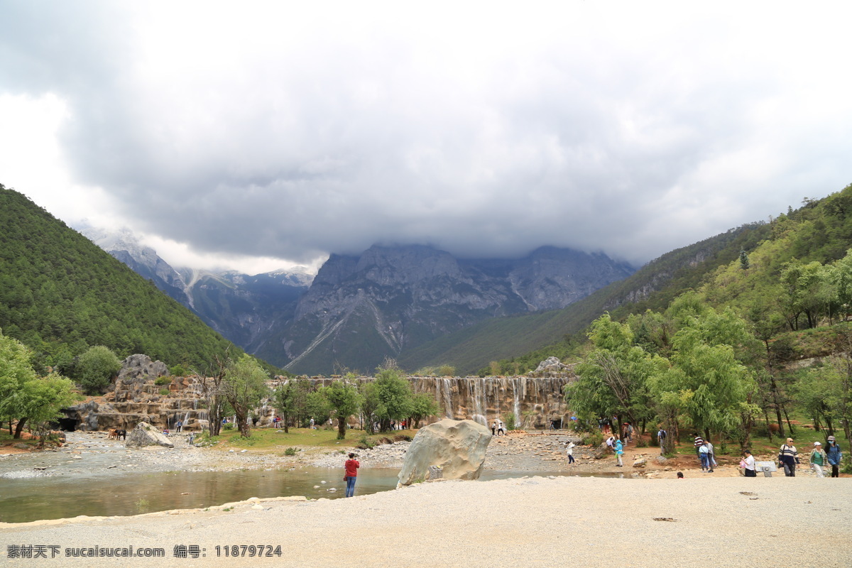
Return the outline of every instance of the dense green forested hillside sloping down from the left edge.
[[[242,351],[88,238],[0,185],[0,330],[37,363],[58,365],[96,345],[205,369]]]

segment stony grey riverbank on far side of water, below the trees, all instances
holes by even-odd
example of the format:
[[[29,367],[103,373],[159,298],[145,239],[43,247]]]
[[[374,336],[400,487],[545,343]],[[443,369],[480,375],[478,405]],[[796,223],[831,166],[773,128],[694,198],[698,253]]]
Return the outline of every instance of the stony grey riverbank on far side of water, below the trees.
[[[126,448],[124,441],[107,439],[105,432],[67,433],[67,444],[55,450],[0,451],[0,478],[26,479],[35,477],[113,477],[122,473],[164,472],[227,472],[240,470],[273,470],[299,468],[343,468],[346,454],[358,454],[362,468],[401,468],[410,442],[377,445],[370,450],[354,446],[357,437],[350,435],[333,448],[299,445],[292,455],[285,447],[253,449],[219,444],[211,447],[190,446],[187,435],[172,434],[174,449],[148,446]],[[739,459],[717,456],[719,467],[713,473],[701,473],[694,456],[664,459],[654,447],[625,448],[624,468],[616,467],[612,454],[595,459],[594,448],[578,445],[574,448],[575,462],[568,463],[566,444],[577,442],[565,431],[514,431],[508,436],[492,438],[486,453],[486,471],[561,472],[577,475],[624,475],[625,477],[675,478],[678,471],[712,477],[740,476]],[[775,456],[756,456],[758,460],[773,461]],[[643,460],[633,467],[636,460]],[[807,466],[799,468],[799,476],[813,473]]]

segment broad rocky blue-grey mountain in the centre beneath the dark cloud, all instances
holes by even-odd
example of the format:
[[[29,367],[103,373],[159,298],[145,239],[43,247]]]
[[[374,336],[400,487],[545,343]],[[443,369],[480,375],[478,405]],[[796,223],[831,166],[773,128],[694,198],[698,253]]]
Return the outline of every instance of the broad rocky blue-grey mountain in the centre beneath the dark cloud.
[[[369,371],[486,319],[564,307],[631,273],[606,255],[552,247],[516,260],[457,259],[419,245],[331,255],[293,324],[257,354],[293,372]]]

